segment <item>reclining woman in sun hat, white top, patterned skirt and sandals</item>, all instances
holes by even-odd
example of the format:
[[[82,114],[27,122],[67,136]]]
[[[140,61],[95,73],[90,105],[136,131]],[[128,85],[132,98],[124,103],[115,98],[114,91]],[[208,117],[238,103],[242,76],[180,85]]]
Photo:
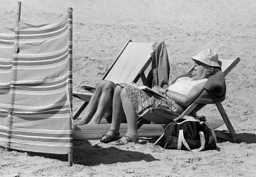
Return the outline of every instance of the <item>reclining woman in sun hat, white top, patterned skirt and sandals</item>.
[[[150,109],[159,109],[172,115],[180,115],[202,93],[209,76],[221,70],[221,66],[218,64],[218,54],[212,49],[201,51],[191,58],[195,61],[192,78],[179,78],[168,89],[153,88],[154,91],[164,94],[165,98],[147,93],[128,83],[116,84],[111,127],[100,141],[108,143],[117,140],[114,144],[118,146],[129,142],[138,143],[137,118],[143,116]],[[119,139],[119,128],[124,113],[128,124],[127,133]],[[154,122],[157,123],[157,120]]]

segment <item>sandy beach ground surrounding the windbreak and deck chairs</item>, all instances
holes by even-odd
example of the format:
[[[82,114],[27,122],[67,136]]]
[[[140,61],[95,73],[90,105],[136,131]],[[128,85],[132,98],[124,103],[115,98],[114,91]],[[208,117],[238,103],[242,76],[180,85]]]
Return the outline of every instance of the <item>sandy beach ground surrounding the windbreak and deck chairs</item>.
[[[0,0],[0,28],[15,26],[17,0]],[[256,176],[255,0],[23,0],[21,20],[50,19],[73,8],[73,81],[95,86],[125,43],[164,40],[170,80],[193,64],[190,56],[213,48],[220,59],[241,58],[227,75],[224,109],[241,143],[218,140],[218,149],[192,153],[154,146],[156,138],[115,147],[74,141],[67,155],[5,152],[0,177],[254,177]],[[81,101],[73,100],[74,112]],[[221,118],[214,105],[200,115]],[[225,125],[218,128],[227,131]]]

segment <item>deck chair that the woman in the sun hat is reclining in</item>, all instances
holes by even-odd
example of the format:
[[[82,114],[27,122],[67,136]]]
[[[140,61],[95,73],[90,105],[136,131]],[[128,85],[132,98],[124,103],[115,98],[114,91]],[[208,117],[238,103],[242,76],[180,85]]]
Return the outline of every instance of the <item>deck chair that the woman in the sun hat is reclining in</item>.
[[[224,76],[226,76],[232,69],[233,67],[235,67],[239,62],[240,62],[240,58],[236,57],[236,59],[220,59],[220,61],[222,62],[222,66],[221,69],[224,73]],[[192,67],[188,73],[190,71],[193,70],[194,67]],[[218,108],[218,111],[221,114],[221,117],[224,120],[224,123],[226,124],[230,134],[232,135],[233,140],[238,140],[238,137],[236,135],[236,132],[227,116],[227,113],[225,112],[222,104],[220,102],[215,104]],[[192,103],[183,113],[182,115],[193,115],[194,113],[196,113],[197,111],[199,111],[201,108],[203,108],[205,106],[205,104],[198,104],[198,103]],[[174,120],[175,118],[177,118],[176,116],[173,115],[169,115],[165,112],[160,112],[157,110],[150,110],[148,111],[143,117],[147,117],[150,118],[154,116],[155,117],[159,117],[160,119],[171,119]],[[145,121],[144,118],[141,118],[140,121],[138,121],[137,123],[137,128],[139,129],[140,126],[143,125],[143,122]],[[218,134],[220,135],[220,134]],[[161,140],[161,137],[154,143],[155,145],[159,144]]]

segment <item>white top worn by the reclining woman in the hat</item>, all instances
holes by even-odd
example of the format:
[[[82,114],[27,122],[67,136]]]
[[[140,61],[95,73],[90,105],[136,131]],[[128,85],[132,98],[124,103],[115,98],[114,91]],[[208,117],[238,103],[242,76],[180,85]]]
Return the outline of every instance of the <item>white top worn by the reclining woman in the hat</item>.
[[[207,81],[208,79],[192,80],[190,77],[181,77],[168,87],[168,90],[187,95],[189,91],[197,84]]]

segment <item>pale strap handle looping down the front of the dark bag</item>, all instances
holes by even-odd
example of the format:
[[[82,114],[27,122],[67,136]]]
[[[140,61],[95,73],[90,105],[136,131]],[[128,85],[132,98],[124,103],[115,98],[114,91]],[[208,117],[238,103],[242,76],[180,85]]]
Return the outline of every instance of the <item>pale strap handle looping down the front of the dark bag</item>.
[[[205,138],[204,138],[204,132],[199,132],[200,134],[200,139],[201,139],[201,147],[198,149],[190,149],[188,143],[186,142],[184,135],[183,135],[183,130],[179,131],[179,138],[178,138],[178,146],[177,149],[181,149],[181,144],[183,143],[185,147],[192,152],[199,152],[201,150],[204,150],[204,145],[205,145]]]

